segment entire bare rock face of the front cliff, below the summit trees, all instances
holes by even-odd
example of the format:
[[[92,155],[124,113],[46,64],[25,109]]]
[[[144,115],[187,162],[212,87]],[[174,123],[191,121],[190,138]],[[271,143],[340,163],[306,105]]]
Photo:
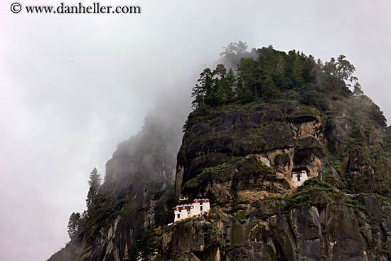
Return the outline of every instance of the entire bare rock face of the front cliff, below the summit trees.
[[[280,101],[193,112],[176,195],[213,207],[162,231],[156,259],[390,260],[391,132],[373,112],[366,97],[325,111]]]

